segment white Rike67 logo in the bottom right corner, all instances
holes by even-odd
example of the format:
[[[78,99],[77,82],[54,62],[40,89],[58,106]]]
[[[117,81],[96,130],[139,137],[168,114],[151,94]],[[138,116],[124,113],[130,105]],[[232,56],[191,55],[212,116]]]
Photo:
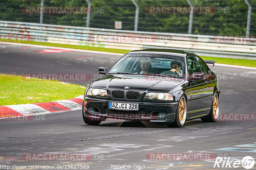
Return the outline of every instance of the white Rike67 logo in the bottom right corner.
[[[241,168],[241,165],[245,169],[251,169],[254,166],[255,162],[254,159],[251,156],[245,156],[242,161],[240,160],[230,160],[230,157],[228,158],[222,158],[217,157],[214,163],[214,168]]]

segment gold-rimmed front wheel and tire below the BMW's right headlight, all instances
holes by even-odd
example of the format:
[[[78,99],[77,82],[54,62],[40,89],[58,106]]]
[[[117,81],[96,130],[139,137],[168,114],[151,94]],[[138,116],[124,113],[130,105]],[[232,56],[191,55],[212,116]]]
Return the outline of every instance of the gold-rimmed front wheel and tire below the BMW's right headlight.
[[[182,127],[187,117],[187,101],[184,95],[181,96],[178,107],[176,109],[175,120],[168,127]]]

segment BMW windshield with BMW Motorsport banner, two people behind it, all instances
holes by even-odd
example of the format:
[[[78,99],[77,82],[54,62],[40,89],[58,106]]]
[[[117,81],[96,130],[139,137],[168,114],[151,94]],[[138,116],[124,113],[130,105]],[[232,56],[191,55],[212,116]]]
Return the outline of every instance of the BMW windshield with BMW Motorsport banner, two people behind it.
[[[108,74],[154,74],[184,78],[184,58],[165,54],[126,54],[109,70]]]

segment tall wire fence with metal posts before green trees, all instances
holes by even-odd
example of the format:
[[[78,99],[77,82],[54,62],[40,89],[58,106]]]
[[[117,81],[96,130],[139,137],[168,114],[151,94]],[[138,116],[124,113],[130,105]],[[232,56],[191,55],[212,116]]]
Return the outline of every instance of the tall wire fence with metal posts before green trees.
[[[122,30],[135,30],[138,21],[138,31],[256,35],[255,0],[0,0],[0,10],[6,21],[40,23],[41,17],[44,24],[104,29],[121,21]]]

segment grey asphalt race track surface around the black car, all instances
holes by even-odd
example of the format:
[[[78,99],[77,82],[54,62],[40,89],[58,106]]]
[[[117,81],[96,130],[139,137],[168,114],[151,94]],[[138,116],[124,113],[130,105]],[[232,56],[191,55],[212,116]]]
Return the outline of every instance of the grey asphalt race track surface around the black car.
[[[42,50],[51,49],[0,44],[0,73],[90,74],[93,79],[99,76],[98,67],[110,68],[120,58],[118,55],[98,53],[38,52]],[[234,168],[233,163],[234,160],[242,161],[245,156],[251,156],[256,161],[256,70],[210,68],[218,74],[220,115],[238,115],[239,118],[249,115],[249,118],[254,116],[254,120],[236,121],[229,117],[216,123],[203,123],[197,119],[186,122],[182,128],[168,128],[150,122],[107,120],[93,126],[84,124],[82,109],[47,114],[34,121],[0,120],[0,165],[65,165],[66,168],[68,165],[89,165],[89,169],[104,170],[115,167],[128,169],[129,165],[130,169],[149,170],[244,169],[241,164]],[[74,82],[87,85],[92,79]],[[76,161],[26,158],[28,154],[44,153],[86,153],[92,157]],[[210,154],[212,159],[199,160],[194,156],[189,160],[184,157],[166,160],[167,156],[163,153],[203,153]],[[228,165],[224,168],[224,158],[219,163],[220,167],[214,168],[216,157],[230,157],[232,168]]]

